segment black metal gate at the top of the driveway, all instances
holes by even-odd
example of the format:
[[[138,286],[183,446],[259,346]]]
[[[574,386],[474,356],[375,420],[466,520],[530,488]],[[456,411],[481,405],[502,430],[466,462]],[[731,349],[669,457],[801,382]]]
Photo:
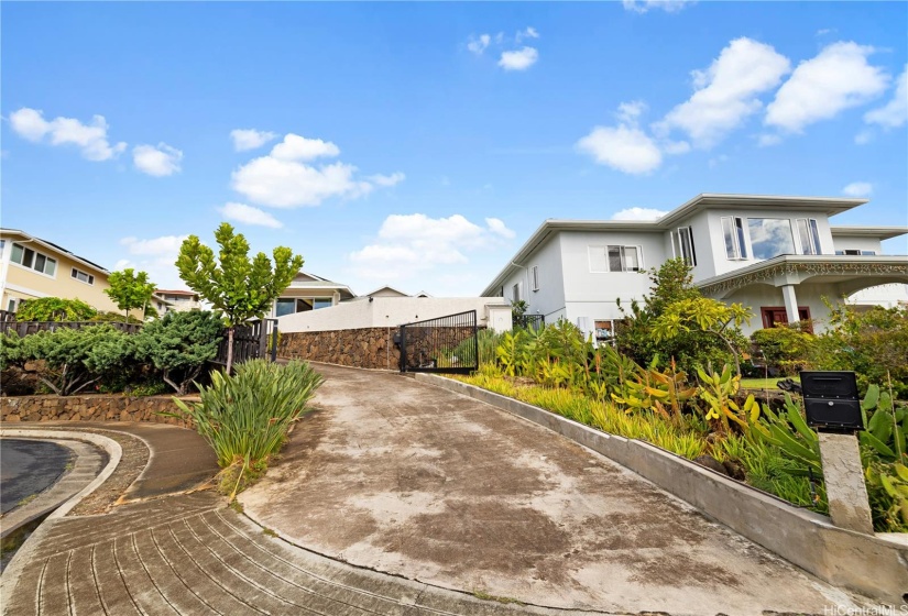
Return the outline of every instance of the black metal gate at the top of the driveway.
[[[401,372],[469,374],[479,369],[477,311],[401,326]]]

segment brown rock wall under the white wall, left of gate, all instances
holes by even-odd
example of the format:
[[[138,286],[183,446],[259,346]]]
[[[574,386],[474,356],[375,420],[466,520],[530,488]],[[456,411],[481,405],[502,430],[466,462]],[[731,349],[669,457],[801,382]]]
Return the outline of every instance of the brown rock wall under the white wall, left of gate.
[[[397,328],[282,332],[277,355],[354,367],[398,370],[401,351],[394,345]]]

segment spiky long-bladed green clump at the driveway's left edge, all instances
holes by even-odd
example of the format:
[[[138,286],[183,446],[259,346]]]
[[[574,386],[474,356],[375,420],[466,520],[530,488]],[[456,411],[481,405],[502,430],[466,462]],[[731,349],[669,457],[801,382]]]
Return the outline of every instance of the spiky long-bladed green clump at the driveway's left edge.
[[[311,410],[309,400],[322,378],[307,363],[273,364],[253,360],[236,366],[232,376],[211,373],[211,386],[200,386],[200,404],[174,398],[211,446],[237,491],[263,472],[287,439],[294,421]]]

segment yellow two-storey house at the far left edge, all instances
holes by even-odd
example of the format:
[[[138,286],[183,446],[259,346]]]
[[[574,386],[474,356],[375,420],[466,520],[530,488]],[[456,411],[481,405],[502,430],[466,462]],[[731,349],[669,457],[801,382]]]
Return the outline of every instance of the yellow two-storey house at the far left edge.
[[[14,312],[40,297],[80,299],[98,310],[119,311],[105,294],[110,272],[83,256],[15,229],[0,229],[2,309]],[[141,317],[141,310],[132,315]]]

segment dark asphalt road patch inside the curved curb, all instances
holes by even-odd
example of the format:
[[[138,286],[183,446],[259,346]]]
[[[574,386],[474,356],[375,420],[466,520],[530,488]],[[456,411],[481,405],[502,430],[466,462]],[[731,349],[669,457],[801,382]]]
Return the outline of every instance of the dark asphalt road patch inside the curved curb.
[[[46,441],[3,439],[0,443],[0,513],[52,486],[72,462],[73,452]]]

